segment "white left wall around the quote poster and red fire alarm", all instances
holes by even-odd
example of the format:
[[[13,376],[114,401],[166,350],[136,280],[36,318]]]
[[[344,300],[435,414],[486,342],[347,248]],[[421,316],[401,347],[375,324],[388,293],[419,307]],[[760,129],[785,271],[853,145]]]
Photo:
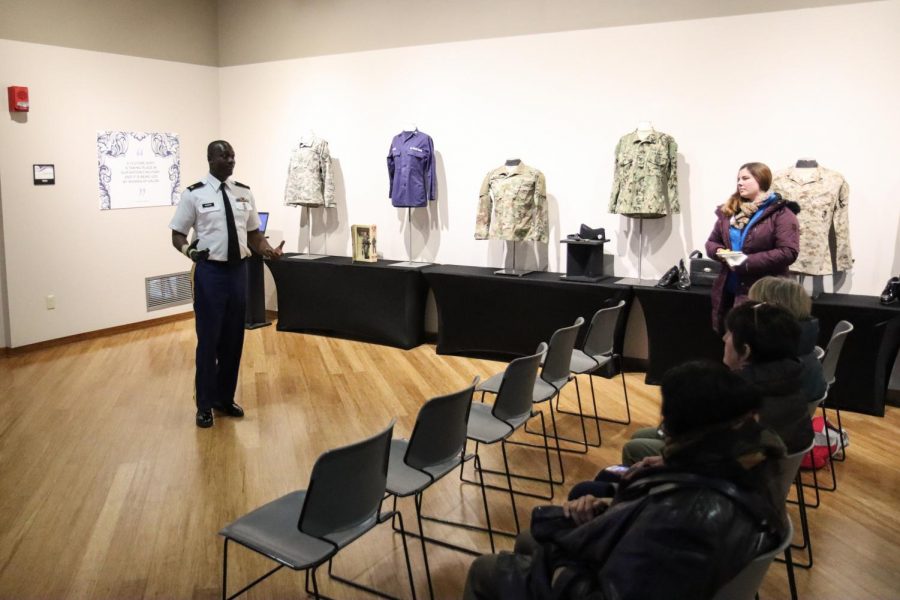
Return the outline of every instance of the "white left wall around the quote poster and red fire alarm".
[[[100,211],[96,135],[177,132],[190,184],[218,134],[217,69],[0,40],[0,81],[31,99],[27,117],[0,121],[7,345],[190,310],[146,311],[144,278],[189,268],[171,247],[174,208]],[[32,185],[33,163],[55,164],[56,185]]]

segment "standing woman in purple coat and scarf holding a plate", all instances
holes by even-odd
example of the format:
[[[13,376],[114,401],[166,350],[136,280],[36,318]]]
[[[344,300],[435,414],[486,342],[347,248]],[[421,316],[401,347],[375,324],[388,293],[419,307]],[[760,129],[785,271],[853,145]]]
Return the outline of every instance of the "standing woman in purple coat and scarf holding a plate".
[[[800,251],[800,206],[769,193],[771,184],[772,171],[763,163],[741,165],[737,189],[716,209],[706,255],[724,264],[712,288],[712,324],[719,333],[728,311],[747,300],[750,286],[767,275],[786,277]],[[745,260],[729,264],[722,252],[743,253]]]

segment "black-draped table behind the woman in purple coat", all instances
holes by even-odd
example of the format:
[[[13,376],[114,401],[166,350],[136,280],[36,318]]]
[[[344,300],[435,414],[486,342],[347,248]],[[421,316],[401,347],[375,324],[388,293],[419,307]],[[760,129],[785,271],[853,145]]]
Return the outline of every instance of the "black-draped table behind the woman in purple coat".
[[[635,296],[647,322],[647,383],[659,384],[669,368],[686,360],[722,360],[723,342],[712,331],[710,288],[635,287]],[[883,306],[874,296],[823,294],[812,312],[819,319],[823,348],[838,321],[854,326],[841,352],[829,404],[883,416],[887,379],[900,345],[900,308]]]

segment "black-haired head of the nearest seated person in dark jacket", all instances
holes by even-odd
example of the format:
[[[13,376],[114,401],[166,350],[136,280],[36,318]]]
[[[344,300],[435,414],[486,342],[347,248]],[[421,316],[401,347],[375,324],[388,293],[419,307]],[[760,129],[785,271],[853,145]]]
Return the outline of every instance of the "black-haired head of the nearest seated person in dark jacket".
[[[689,362],[663,375],[663,430],[671,437],[751,418],[760,405],[756,389],[721,363]]]

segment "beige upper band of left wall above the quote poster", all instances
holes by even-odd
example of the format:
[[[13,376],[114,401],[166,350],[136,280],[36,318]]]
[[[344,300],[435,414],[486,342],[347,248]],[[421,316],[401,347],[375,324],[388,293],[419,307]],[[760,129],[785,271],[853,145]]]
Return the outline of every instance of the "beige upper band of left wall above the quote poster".
[[[216,65],[216,0],[0,0],[0,39]]]

